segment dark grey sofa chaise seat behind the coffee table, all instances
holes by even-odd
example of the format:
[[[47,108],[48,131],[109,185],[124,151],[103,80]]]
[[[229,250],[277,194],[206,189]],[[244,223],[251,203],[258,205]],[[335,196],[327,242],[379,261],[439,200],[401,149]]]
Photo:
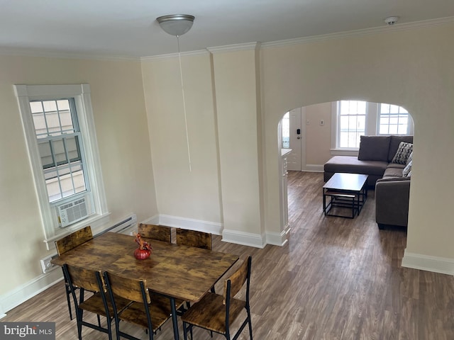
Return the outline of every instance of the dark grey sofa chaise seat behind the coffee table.
[[[354,156],[334,156],[323,166],[324,171],[349,174],[366,174],[383,176],[388,163],[382,161],[362,161]],[[401,170],[402,172],[402,170]]]

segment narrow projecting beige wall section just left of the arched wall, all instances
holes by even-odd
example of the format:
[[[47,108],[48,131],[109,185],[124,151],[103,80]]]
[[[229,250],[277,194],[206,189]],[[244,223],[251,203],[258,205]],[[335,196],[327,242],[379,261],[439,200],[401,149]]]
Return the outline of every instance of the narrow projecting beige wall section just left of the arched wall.
[[[213,55],[224,239],[233,231],[262,234],[256,62],[254,49]]]

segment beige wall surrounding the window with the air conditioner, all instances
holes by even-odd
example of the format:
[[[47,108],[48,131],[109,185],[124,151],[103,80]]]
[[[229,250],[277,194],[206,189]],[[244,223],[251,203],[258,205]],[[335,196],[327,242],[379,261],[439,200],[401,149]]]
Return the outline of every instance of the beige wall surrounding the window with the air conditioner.
[[[43,243],[13,84],[90,84],[111,222],[157,213],[140,62],[0,56],[0,296],[41,274]]]

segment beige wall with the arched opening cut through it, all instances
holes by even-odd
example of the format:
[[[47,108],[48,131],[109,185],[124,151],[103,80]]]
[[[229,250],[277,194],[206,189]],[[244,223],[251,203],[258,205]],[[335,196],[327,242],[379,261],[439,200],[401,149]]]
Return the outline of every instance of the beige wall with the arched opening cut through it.
[[[415,158],[407,251],[448,259],[454,259],[446,206],[454,186],[449,174],[454,156],[446,152],[454,146],[453,33],[449,24],[262,50],[267,155],[277,154],[275,127],[289,107],[359,98],[394,103],[412,113]],[[275,157],[267,157],[266,166],[268,230],[279,223]]]

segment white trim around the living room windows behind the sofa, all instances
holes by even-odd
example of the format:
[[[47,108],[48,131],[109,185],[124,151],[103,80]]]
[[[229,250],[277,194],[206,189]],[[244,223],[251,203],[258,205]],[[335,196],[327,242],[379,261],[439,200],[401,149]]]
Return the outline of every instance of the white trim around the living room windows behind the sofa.
[[[359,148],[345,148],[338,147],[338,103],[333,101],[331,103],[331,154],[341,156],[358,156]],[[380,103],[366,102],[366,123],[365,135],[380,135]],[[409,135],[414,134],[414,122],[409,113]],[[382,135],[380,135],[382,136]]]

